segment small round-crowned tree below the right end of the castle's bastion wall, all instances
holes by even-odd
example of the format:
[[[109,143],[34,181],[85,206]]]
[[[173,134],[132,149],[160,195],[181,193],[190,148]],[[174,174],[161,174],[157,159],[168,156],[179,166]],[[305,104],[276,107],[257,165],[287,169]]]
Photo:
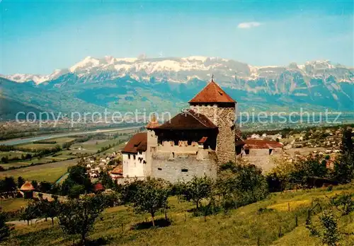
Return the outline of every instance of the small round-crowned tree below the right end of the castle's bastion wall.
[[[210,177],[193,177],[189,182],[178,184],[178,194],[185,201],[193,201],[198,211],[200,201],[212,194],[212,180]]]

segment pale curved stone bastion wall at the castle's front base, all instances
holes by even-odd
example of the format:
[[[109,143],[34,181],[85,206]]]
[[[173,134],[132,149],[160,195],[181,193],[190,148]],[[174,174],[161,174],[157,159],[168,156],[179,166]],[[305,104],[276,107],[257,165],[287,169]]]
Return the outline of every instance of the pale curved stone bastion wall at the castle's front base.
[[[201,149],[198,153],[152,153],[152,177],[169,182],[190,181],[193,176],[217,177],[215,151]]]

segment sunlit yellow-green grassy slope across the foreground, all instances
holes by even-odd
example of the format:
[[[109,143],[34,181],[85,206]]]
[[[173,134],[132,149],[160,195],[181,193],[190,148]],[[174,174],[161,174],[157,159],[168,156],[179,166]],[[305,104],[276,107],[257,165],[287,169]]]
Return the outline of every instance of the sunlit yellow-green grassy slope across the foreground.
[[[159,214],[156,228],[149,228],[148,215],[136,215],[132,209],[117,206],[106,209],[102,220],[98,219],[89,240],[101,239],[108,245],[321,245],[318,238],[309,236],[304,228],[307,210],[312,200],[331,196],[336,192],[354,192],[354,186],[312,189],[298,192],[271,194],[268,199],[234,209],[215,216],[193,217],[190,203],[179,203],[176,197],[169,199],[168,216],[171,225],[162,226],[164,215]],[[310,201],[310,202],[307,202]],[[290,211],[283,209],[290,203]],[[273,208],[273,209],[272,209]],[[298,216],[298,226],[295,226]],[[338,228],[343,232],[354,229],[354,213],[342,216]],[[281,228],[281,235],[279,235]],[[72,245],[72,239],[63,235],[57,223],[16,225],[5,245]],[[77,239],[77,238],[76,238]],[[354,245],[354,236],[341,238],[340,245]]]

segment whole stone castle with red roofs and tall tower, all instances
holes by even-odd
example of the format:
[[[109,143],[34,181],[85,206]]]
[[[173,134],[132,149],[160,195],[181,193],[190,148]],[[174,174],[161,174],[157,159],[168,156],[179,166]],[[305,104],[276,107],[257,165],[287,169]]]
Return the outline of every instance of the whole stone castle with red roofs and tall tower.
[[[159,177],[170,182],[216,177],[219,165],[245,153],[246,142],[235,126],[236,101],[213,79],[189,105],[164,124],[152,119],[147,132],[132,136],[122,150],[123,177]]]

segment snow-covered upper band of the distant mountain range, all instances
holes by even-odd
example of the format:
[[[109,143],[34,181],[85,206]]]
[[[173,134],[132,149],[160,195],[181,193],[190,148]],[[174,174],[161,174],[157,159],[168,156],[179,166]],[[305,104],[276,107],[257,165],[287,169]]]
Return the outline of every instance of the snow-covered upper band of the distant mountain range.
[[[219,57],[170,57],[170,58],[114,58],[86,57],[69,69],[55,70],[50,75],[13,74],[3,76],[11,81],[34,81],[36,84],[52,81],[64,74],[75,74],[84,81],[107,80],[130,76],[139,81],[170,81],[188,83],[193,78],[207,81],[214,74],[222,86],[238,88],[238,80],[254,81],[259,78],[275,80],[282,74],[298,74],[307,78],[326,79],[331,76],[336,82],[353,83],[354,69],[330,61],[307,61],[289,66],[251,66],[232,59]],[[104,76],[102,76],[104,74]]]

